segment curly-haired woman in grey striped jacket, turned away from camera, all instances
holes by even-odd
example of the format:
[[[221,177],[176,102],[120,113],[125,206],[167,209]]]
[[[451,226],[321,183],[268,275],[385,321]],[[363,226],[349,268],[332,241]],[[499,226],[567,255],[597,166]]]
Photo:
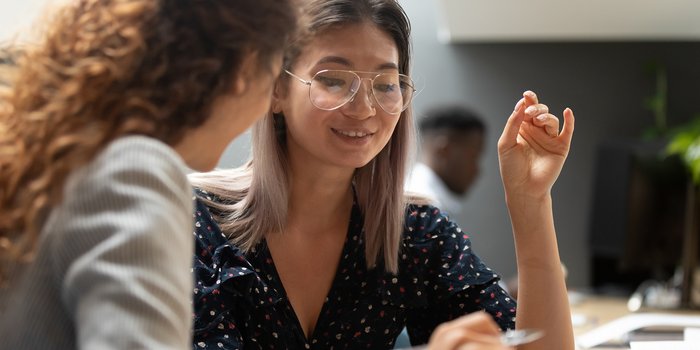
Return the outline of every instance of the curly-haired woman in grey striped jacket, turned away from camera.
[[[0,86],[0,347],[190,348],[186,167],[268,110],[295,10],[76,0],[51,23]]]

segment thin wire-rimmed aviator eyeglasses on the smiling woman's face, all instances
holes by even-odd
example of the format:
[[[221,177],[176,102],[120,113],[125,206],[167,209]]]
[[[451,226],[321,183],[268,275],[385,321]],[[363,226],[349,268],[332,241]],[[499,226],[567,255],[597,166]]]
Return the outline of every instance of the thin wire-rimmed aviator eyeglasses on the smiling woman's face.
[[[285,72],[308,85],[311,104],[325,111],[338,109],[352,101],[363,79],[370,81],[374,100],[389,114],[400,114],[406,110],[416,91],[411,78],[398,73],[322,70],[314,74],[311,80],[305,80],[286,69]],[[373,77],[361,78],[359,74],[371,74]]]

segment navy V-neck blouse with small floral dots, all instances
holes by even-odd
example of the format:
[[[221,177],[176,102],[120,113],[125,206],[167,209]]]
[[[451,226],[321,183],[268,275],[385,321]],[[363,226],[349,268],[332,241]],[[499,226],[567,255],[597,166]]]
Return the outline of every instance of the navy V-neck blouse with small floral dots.
[[[244,254],[197,200],[193,349],[391,349],[404,327],[412,344],[424,344],[438,324],[476,310],[515,328],[515,301],[439,209],[408,207],[398,275],[367,268],[362,223],[355,205],[335,279],[306,338],[265,241]]]

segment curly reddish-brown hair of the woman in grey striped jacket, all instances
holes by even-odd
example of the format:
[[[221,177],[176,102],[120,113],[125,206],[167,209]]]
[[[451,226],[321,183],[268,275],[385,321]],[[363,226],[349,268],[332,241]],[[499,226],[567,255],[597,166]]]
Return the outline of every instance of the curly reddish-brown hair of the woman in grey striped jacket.
[[[56,12],[42,42],[6,62],[0,268],[31,258],[66,178],[110,141],[175,144],[251,74],[245,57],[269,69],[296,28],[292,1],[77,0]]]

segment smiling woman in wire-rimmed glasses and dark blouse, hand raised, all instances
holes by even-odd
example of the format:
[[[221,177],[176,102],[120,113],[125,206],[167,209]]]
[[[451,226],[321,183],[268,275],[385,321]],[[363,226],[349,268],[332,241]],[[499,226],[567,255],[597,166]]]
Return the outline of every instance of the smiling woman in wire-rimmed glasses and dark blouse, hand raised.
[[[407,327],[413,344],[435,349],[502,349],[500,330],[513,328],[543,330],[534,348],[573,349],[550,196],[571,111],[559,134],[527,92],[499,142],[521,277],[516,317],[468,236],[404,194],[415,90],[398,2],[301,6],[270,114],[253,128],[252,160],[191,176],[194,348],[389,349]]]

